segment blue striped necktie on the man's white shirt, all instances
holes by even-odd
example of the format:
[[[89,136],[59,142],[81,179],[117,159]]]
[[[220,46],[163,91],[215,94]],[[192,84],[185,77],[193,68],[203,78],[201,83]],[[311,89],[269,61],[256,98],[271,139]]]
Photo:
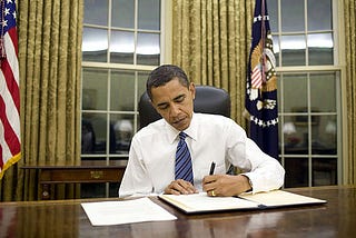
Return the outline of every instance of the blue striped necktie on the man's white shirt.
[[[188,146],[185,141],[187,135],[185,132],[179,133],[179,142],[176,152],[176,167],[175,172],[176,179],[184,179],[186,181],[194,182],[192,180],[192,169],[191,169],[191,158]]]

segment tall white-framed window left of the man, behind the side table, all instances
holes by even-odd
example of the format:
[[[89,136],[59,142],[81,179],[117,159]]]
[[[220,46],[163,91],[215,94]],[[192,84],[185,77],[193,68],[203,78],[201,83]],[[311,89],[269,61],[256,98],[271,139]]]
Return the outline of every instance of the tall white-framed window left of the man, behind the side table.
[[[81,160],[128,158],[148,72],[162,60],[160,0],[85,0]],[[82,197],[117,196],[118,184],[81,185]]]

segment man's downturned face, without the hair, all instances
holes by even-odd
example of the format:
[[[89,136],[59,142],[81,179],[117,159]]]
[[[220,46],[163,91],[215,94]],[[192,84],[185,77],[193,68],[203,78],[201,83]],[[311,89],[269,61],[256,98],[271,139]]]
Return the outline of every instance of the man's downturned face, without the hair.
[[[151,88],[151,93],[154,107],[170,126],[179,131],[189,127],[196,95],[194,83],[188,89],[174,79],[165,86]]]

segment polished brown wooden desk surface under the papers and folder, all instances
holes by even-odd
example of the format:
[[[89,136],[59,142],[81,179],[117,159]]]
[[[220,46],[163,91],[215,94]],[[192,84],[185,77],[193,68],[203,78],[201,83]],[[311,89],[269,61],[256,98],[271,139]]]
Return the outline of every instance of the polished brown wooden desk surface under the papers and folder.
[[[328,202],[267,210],[185,215],[154,197],[151,199],[155,202],[178,219],[105,227],[91,226],[80,206],[82,201],[98,199],[2,202],[0,237],[289,238],[353,237],[356,234],[356,186],[286,190],[326,199]]]

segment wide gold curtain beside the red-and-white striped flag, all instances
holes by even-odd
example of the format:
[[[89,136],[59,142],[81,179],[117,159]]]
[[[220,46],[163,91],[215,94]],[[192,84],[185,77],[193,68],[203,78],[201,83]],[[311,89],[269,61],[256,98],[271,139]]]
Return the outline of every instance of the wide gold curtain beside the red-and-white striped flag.
[[[6,172],[1,200],[38,199],[38,175],[23,165],[80,162],[83,0],[20,0],[17,16],[22,158]],[[57,186],[56,198],[73,188]]]

